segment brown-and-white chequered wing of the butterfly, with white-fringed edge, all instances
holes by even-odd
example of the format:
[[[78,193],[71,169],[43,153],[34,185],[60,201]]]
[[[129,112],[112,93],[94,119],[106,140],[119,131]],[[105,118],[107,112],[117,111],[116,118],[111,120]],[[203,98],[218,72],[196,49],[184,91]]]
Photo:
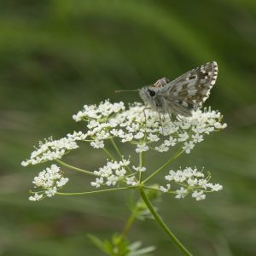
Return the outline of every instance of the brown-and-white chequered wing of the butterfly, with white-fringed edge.
[[[216,82],[217,75],[217,62],[208,62],[166,84],[162,88],[162,96],[166,99],[166,102],[171,101],[175,108],[187,108],[189,112],[192,109],[201,108],[202,103],[210,95],[210,90]]]

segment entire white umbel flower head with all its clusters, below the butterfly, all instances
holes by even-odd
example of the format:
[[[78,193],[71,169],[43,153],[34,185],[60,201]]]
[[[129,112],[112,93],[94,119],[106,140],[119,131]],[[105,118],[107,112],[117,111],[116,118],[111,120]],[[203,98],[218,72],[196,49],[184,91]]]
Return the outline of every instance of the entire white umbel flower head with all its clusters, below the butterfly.
[[[111,103],[108,100],[101,102],[98,106],[84,105],[84,109],[74,114],[73,119],[84,121],[86,130],[75,131],[59,140],[50,138],[44,143],[39,143],[38,148],[32,152],[30,159],[21,164],[23,166],[36,165],[48,160],[61,162],[60,160],[65,154],[79,148],[79,141],[90,143],[92,148],[99,148],[108,152],[105,145],[110,141],[119,153],[119,160],[108,154],[108,157],[110,156],[112,159],[107,160],[105,166],[99,167],[94,172],[89,172],[95,177],[95,180],[90,184],[96,189],[102,186],[119,187],[120,184],[126,187],[137,187],[143,182],[142,173],[145,177],[147,172],[150,172],[148,171],[150,168],[143,162],[143,154],[146,154],[148,150],[162,153],[171,151],[172,148],[177,151],[178,148],[178,154],[183,152],[189,154],[197,143],[204,141],[206,135],[213,131],[223,130],[227,126],[222,123],[221,113],[211,110],[211,108],[198,109],[191,117],[177,116],[177,119],[172,120],[168,114],[162,115],[160,119],[159,113],[145,109],[141,103],[133,103],[125,108],[123,102]],[[138,154],[139,164],[131,164],[132,160],[129,157],[120,154],[113,140],[131,144],[134,152]],[[50,170],[52,168],[55,167],[51,166]],[[45,177],[47,173],[44,171],[43,176]],[[205,199],[206,191],[222,189],[218,184],[209,183],[209,178],[210,176],[205,178],[204,174],[198,172],[196,168],[189,169],[187,167],[183,171],[170,171],[166,180],[177,183],[179,187],[171,191],[172,184],[166,183],[165,186],[159,186],[159,191],[174,193],[177,199],[183,198],[191,192],[196,201],[201,201]],[[147,178],[146,180],[148,181]],[[44,196],[54,195],[57,189],[62,187],[58,187],[57,182],[59,183],[61,180],[54,179],[49,187],[44,184],[42,188],[46,191],[43,195],[35,194],[30,199],[40,200]],[[61,184],[64,185],[63,179],[62,182]]]

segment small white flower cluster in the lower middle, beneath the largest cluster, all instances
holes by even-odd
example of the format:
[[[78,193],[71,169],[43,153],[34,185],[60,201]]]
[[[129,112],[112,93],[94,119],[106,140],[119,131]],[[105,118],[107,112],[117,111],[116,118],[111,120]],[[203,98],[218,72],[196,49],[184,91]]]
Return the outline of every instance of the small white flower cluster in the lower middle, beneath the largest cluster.
[[[127,173],[126,166],[129,166],[130,160],[121,161],[108,161],[106,166],[101,167],[98,171],[94,173],[98,176],[94,182],[91,182],[91,186],[100,188],[102,185],[115,185],[120,181],[124,181],[127,185],[134,186],[137,184],[136,178],[132,175],[125,177]]]

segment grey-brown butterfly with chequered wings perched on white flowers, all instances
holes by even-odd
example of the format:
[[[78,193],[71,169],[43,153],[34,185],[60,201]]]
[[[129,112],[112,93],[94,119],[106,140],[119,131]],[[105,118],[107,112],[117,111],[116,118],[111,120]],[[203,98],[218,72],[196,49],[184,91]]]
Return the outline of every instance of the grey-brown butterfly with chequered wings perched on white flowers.
[[[146,106],[158,113],[189,117],[207,100],[217,76],[217,62],[207,62],[173,81],[159,79],[153,85],[140,89],[139,96]]]

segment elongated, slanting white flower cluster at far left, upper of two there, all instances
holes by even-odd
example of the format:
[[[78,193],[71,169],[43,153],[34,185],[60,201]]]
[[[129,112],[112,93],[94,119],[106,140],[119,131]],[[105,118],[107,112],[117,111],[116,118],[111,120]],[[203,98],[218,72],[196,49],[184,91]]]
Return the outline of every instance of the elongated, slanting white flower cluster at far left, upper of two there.
[[[59,140],[53,140],[52,137],[48,140],[45,139],[44,143],[39,142],[39,147],[32,152],[30,159],[22,161],[21,165],[36,165],[47,160],[61,159],[68,151],[79,148],[76,141],[81,141],[85,138],[86,135],[82,131],[74,131],[73,134],[67,134],[67,137],[62,137]]]

